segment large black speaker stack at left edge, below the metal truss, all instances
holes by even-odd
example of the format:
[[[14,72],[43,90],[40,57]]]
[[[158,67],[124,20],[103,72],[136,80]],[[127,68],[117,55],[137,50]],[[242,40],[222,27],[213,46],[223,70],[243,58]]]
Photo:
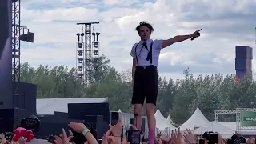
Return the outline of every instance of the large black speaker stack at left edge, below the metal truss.
[[[12,82],[18,86],[18,95],[12,95],[13,106],[0,108],[0,133],[13,132],[20,125],[21,119],[36,114],[37,86],[26,82]],[[3,102],[4,105],[4,102]]]

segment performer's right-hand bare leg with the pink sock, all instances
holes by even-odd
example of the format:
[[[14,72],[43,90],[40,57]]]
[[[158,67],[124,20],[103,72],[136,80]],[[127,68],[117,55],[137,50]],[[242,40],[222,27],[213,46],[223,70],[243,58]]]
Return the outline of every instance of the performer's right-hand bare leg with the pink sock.
[[[155,117],[154,117],[154,104],[147,103],[146,104],[146,116],[147,122],[149,126],[149,142],[150,144],[154,144],[154,134],[155,134]]]

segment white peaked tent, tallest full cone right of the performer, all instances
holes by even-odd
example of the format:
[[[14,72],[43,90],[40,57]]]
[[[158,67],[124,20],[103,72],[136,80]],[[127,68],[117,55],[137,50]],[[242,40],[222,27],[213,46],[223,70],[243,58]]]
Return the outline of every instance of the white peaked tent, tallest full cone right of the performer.
[[[197,108],[197,110],[194,111],[194,114],[180,126],[180,130],[195,130],[196,128],[200,126],[205,126],[209,123],[208,119],[202,114],[201,110]]]

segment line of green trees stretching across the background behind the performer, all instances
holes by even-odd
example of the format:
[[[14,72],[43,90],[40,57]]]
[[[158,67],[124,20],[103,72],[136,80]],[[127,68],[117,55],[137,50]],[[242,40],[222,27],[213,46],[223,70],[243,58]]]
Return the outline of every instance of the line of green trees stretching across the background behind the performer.
[[[75,68],[67,66],[21,66],[22,82],[38,85],[38,98],[110,98],[110,109],[133,113],[130,70],[118,73],[104,56],[95,58],[90,71],[90,86],[84,86]],[[253,108],[256,102],[256,82],[244,78],[239,84],[233,75],[198,76],[184,70],[184,78],[159,78],[158,108],[181,124],[199,106],[206,118],[213,120],[214,110]],[[223,116],[224,117],[224,116]],[[223,118],[222,117],[222,118]]]

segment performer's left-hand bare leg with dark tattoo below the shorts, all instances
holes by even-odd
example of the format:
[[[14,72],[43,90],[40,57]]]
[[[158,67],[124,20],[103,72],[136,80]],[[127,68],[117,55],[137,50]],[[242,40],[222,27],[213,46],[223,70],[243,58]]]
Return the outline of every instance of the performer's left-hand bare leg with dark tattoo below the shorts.
[[[134,126],[138,129],[142,129],[142,104],[134,104]]]

